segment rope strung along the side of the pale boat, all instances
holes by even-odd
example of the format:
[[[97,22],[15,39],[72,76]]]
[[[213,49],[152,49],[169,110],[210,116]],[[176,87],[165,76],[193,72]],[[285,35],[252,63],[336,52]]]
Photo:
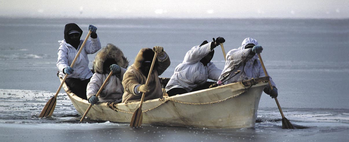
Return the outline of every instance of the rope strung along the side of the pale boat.
[[[252,86],[252,85],[251,85],[251,86]],[[162,104],[164,104],[164,103],[166,103],[166,102],[168,102],[168,101],[173,101],[173,102],[181,103],[181,104],[189,104],[189,105],[207,105],[207,104],[220,103],[220,102],[224,102],[224,101],[226,101],[226,100],[228,100],[228,99],[237,97],[237,96],[239,96],[239,95],[245,93],[248,89],[251,88],[251,86],[250,86],[249,88],[244,89],[244,91],[242,91],[242,92],[240,92],[240,93],[238,93],[238,94],[235,94],[235,95],[233,95],[233,96],[230,96],[230,97],[228,97],[228,98],[221,99],[221,100],[217,100],[217,101],[214,101],[214,102],[208,102],[208,103],[188,103],[188,102],[181,102],[181,101],[174,100],[174,99],[166,99],[166,100],[165,100],[164,102],[162,102],[161,104],[159,104],[159,105],[157,105],[157,106],[155,106],[155,107],[153,107],[153,108],[151,108],[151,109],[142,111],[142,112],[147,112],[147,111],[154,110],[154,109],[156,109],[157,107],[161,106]],[[112,103],[108,103],[109,108],[112,109],[112,110],[114,110],[114,111],[133,114],[133,112],[127,112],[127,111],[119,110],[119,109],[117,109],[116,107],[114,107],[113,105],[112,105],[113,108],[111,108],[110,104],[112,104]]]

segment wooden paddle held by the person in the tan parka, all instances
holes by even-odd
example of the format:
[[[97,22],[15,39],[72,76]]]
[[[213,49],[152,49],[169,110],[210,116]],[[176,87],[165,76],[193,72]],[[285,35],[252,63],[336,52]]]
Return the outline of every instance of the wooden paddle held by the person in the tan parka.
[[[153,70],[154,67],[154,63],[155,63],[155,59],[156,59],[157,53],[155,52],[154,58],[153,58],[153,62],[151,63],[150,66],[150,70],[149,70],[149,74],[147,77],[147,82],[146,82],[146,86],[148,86],[149,81],[150,81],[150,75],[151,75],[151,71]],[[144,101],[144,96],[145,93],[142,94],[142,98],[141,98],[141,102],[139,104],[139,107],[136,111],[134,111],[132,118],[131,118],[131,122],[130,122],[130,127],[140,127],[142,125],[142,120],[143,120],[143,114],[142,114],[142,104]]]

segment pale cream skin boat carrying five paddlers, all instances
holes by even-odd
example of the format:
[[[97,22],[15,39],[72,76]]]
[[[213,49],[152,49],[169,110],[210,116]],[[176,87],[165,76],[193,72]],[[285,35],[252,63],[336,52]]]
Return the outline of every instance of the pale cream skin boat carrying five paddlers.
[[[189,92],[143,103],[142,124],[196,128],[254,128],[259,100],[269,77],[245,80],[215,88]],[[62,81],[62,79],[61,79]],[[63,85],[80,115],[90,103]],[[87,114],[92,120],[129,123],[139,102],[93,105]]]

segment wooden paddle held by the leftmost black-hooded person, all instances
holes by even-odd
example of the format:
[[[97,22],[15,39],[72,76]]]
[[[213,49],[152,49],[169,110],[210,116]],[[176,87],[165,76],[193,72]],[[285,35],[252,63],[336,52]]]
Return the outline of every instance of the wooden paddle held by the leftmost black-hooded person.
[[[79,57],[80,52],[82,51],[82,48],[85,46],[85,44],[86,44],[86,42],[87,42],[87,39],[88,39],[88,37],[91,35],[91,33],[92,33],[92,31],[89,31],[89,32],[88,32],[88,34],[87,34],[87,36],[86,36],[84,42],[82,43],[82,45],[81,45],[81,47],[80,47],[79,52],[77,52],[77,54],[76,54],[76,56],[75,56],[75,58],[74,58],[74,60],[73,60],[73,62],[72,62],[72,65],[70,65],[70,67],[73,67],[73,66],[74,66],[74,63],[75,63],[77,57]],[[40,113],[40,115],[39,115],[39,118],[43,118],[43,117],[47,117],[47,116],[52,116],[52,113],[53,113],[53,111],[54,111],[54,108],[56,107],[57,95],[58,95],[59,91],[61,90],[61,88],[62,88],[62,86],[63,86],[65,80],[67,79],[67,77],[68,77],[68,74],[66,74],[66,75],[64,76],[64,79],[63,79],[61,85],[59,85],[59,88],[58,88],[58,90],[57,90],[57,92],[56,92],[56,95],[54,95],[54,96],[46,103],[44,109],[41,111],[41,113]]]

